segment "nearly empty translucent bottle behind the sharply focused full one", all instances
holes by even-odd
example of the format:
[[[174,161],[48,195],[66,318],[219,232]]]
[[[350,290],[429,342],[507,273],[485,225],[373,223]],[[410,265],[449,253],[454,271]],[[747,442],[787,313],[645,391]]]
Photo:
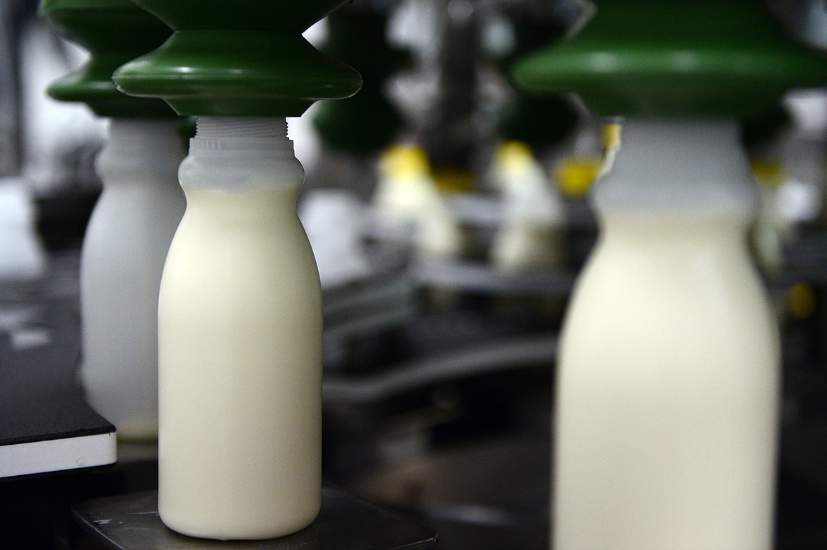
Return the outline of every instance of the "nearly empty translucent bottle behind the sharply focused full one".
[[[122,441],[158,437],[158,288],[184,213],[178,126],[114,119],[96,161],[103,193],[81,255],[79,375],[87,401]]]

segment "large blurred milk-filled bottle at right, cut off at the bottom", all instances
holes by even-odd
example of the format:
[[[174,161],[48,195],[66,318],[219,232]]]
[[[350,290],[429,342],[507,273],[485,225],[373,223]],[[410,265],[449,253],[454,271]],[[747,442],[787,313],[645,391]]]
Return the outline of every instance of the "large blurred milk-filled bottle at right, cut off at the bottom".
[[[737,126],[633,121],[562,334],[552,548],[772,546],[779,352]]]

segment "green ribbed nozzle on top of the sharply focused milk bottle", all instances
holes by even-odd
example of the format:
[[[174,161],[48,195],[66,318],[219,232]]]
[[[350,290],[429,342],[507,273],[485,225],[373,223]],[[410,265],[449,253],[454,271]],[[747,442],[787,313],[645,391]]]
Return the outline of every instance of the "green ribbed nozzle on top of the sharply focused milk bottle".
[[[359,73],[302,32],[345,0],[135,0],[174,30],[117,69],[123,92],[161,97],[182,115],[301,116],[319,99],[350,97]]]

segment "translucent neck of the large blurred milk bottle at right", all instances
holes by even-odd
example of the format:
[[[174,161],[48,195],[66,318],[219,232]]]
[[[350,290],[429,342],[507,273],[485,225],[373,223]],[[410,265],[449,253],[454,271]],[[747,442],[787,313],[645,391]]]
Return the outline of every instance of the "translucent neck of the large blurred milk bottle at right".
[[[617,157],[595,184],[601,217],[750,218],[757,192],[730,119],[624,123]]]

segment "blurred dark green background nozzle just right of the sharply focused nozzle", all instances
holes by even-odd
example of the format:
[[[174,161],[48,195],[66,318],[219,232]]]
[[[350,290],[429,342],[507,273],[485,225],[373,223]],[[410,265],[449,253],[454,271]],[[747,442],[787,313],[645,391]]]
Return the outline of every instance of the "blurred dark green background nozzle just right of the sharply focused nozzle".
[[[389,145],[403,126],[390,104],[385,79],[409,61],[409,54],[385,41],[387,17],[372,9],[346,7],[327,18],[321,50],[355,67],[365,79],[355,97],[320,105],[313,125],[324,143],[346,154],[373,154]]]

